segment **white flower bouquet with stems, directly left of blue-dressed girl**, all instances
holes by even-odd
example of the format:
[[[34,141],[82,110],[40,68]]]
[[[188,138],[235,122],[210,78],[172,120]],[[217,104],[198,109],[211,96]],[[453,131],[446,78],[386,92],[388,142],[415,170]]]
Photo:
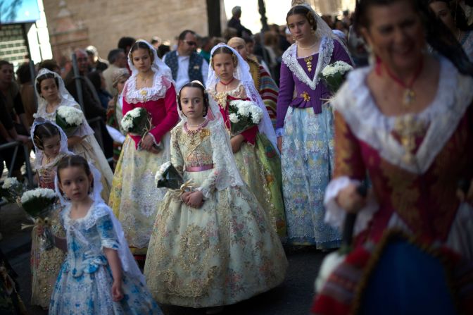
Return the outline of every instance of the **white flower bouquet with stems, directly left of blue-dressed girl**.
[[[39,249],[44,251],[53,248],[54,237],[51,233],[51,219],[48,217],[56,205],[57,195],[49,188],[36,188],[28,190],[21,197],[23,209],[30,215],[34,224],[22,225],[24,228],[42,228],[42,233],[38,235]]]

